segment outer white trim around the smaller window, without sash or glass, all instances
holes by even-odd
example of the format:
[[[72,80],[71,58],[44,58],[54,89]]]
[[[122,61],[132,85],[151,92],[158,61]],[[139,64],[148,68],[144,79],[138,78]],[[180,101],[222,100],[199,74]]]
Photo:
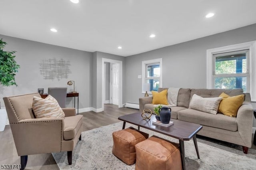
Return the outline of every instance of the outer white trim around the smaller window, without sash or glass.
[[[145,80],[146,80],[146,65],[151,63],[160,63],[159,88],[162,87],[162,58],[142,61],[142,93],[146,93],[146,91],[144,91],[143,89],[143,83],[145,83]],[[151,92],[148,92],[148,94],[151,94]]]

